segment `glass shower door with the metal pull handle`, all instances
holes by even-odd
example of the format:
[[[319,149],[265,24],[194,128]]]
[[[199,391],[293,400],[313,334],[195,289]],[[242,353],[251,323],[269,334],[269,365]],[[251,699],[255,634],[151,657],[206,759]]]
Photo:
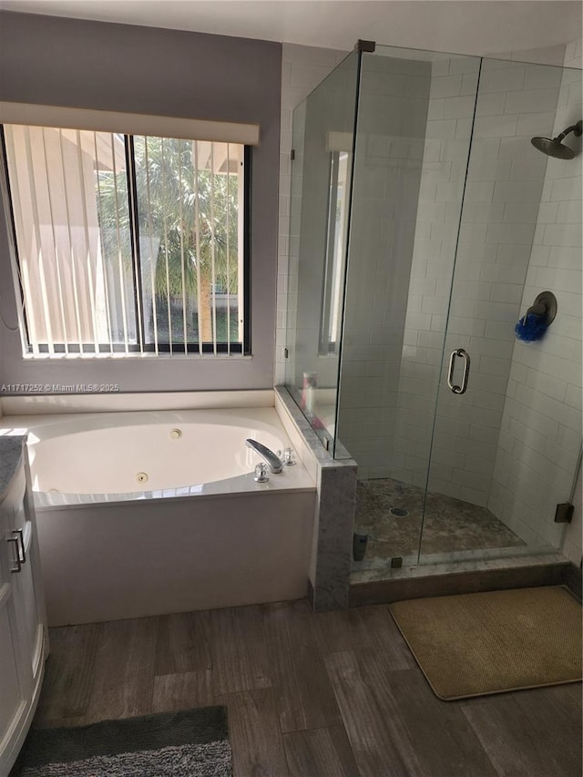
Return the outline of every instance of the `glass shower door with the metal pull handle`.
[[[548,158],[530,140],[554,138],[580,118],[580,83],[580,71],[561,67],[482,63],[424,497],[424,563],[560,547],[557,504],[572,497],[581,445],[581,160]],[[518,339],[517,322],[547,291],[557,317],[541,339]]]

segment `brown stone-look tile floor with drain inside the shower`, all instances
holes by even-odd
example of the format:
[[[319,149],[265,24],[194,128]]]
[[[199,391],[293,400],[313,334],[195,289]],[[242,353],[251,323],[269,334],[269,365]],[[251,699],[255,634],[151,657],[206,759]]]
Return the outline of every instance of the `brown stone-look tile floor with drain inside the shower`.
[[[368,534],[366,560],[416,555],[424,506],[424,489],[398,480],[361,480],[356,491],[356,531]],[[406,516],[394,515],[406,510]],[[454,553],[525,543],[486,507],[429,493],[425,505],[421,552]]]

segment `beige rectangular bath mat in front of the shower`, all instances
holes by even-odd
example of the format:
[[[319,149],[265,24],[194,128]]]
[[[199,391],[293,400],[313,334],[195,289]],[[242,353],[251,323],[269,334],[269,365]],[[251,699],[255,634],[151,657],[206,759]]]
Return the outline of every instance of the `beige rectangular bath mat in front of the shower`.
[[[581,680],[581,606],[566,588],[517,588],[390,606],[440,699]]]

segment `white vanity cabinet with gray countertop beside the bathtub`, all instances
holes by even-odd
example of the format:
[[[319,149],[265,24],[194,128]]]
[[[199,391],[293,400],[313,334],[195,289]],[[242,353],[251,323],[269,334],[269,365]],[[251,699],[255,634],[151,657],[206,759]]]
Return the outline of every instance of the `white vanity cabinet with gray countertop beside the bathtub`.
[[[0,437],[0,777],[26,738],[45,670],[46,615],[26,438]]]

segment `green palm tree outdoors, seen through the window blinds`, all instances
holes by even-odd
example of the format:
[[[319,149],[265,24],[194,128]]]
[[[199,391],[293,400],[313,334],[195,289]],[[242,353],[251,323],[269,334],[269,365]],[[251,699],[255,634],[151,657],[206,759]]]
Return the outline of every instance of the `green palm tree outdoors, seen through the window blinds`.
[[[230,294],[238,287],[238,175],[215,171],[210,144],[142,136],[133,141],[140,246],[149,245],[155,253],[149,258],[155,268],[152,315],[158,312],[162,325],[168,318],[172,332],[170,309],[176,317],[178,307],[179,330],[192,336],[198,329],[199,342],[211,342],[213,283]],[[232,162],[230,167],[238,169],[239,161]],[[97,175],[104,253],[121,253],[130,266],[126,170]],[[119,240],[120,231],[125,240]]]

